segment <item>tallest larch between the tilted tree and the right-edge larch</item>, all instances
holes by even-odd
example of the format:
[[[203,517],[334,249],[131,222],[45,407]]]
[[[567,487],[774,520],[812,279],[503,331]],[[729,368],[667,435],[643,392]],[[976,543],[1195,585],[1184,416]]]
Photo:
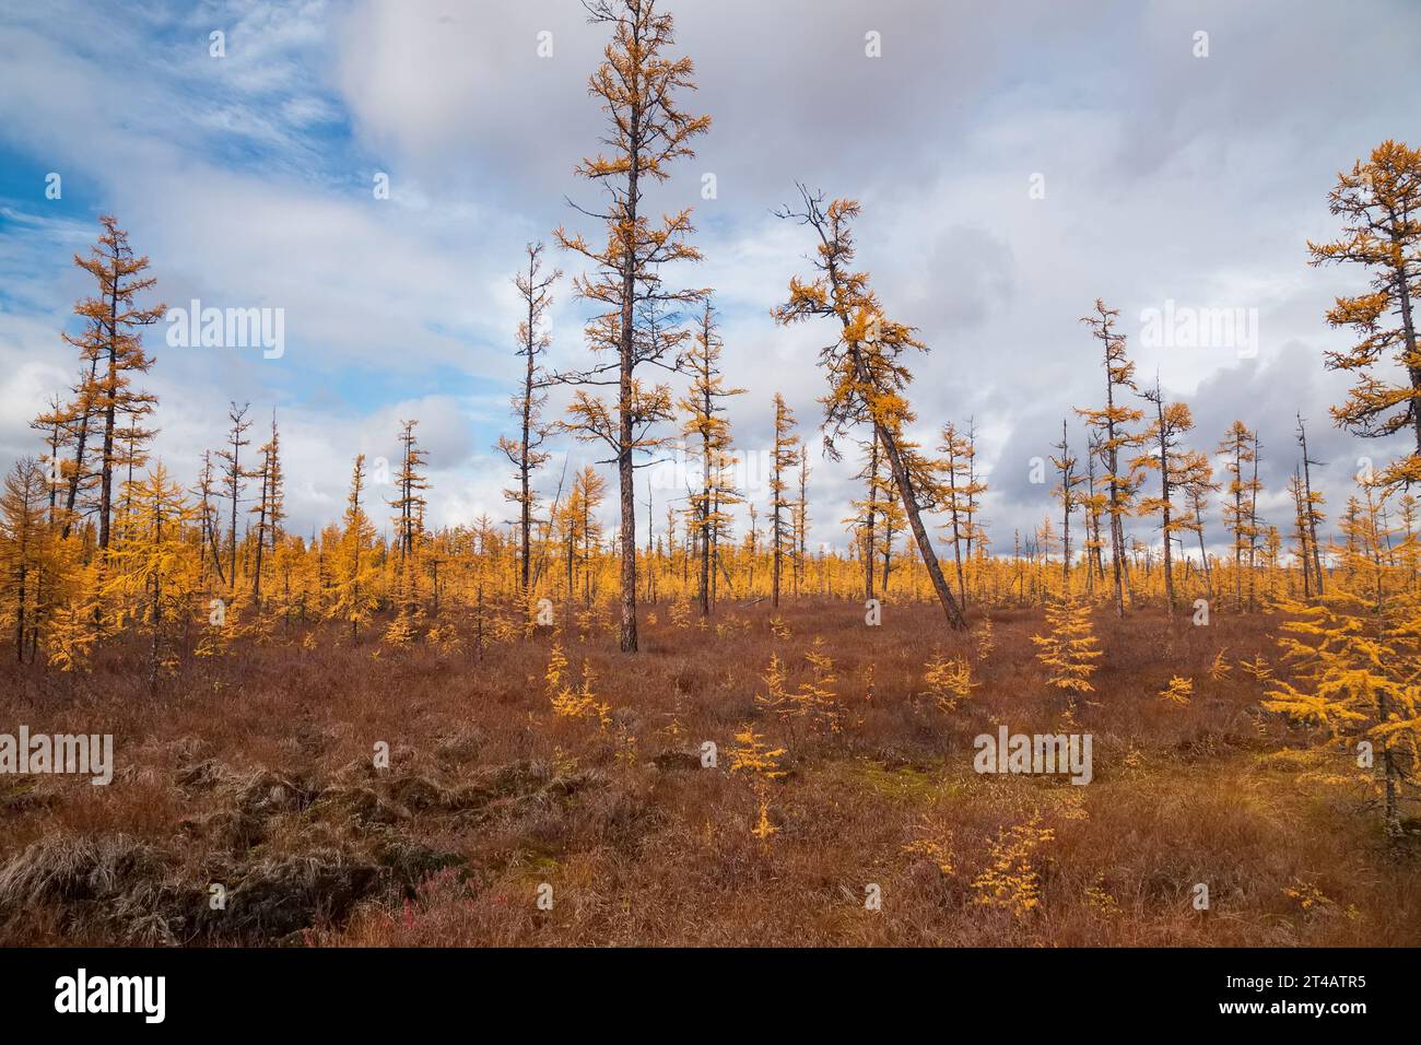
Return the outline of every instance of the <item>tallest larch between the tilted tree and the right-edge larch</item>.
[[[1115,331],[1118,316],[1118,309],[1107,309],[1097,297],[1096,314],[1083,316],[1080,320],[1101,343],[1106,405],[1100,409],[1077,407],[1076,412],[1094,432],[1096,455],[1106,469],[1101,483],[1106,495],[1104,515],[1110,522],[1110,576],[1115,616],[1123,617],[1125,616],[1125,516],[1131,512],[1140,485],[1140,476],[1128,466],[1124,451],[1140,444],[1140,436],[1130,432],[1128,425],[1141,421],[1144,411],[1127,407],[1123,401],[1124,392],[1137,390],[1135,364],[1125,354],[1125,336]]]

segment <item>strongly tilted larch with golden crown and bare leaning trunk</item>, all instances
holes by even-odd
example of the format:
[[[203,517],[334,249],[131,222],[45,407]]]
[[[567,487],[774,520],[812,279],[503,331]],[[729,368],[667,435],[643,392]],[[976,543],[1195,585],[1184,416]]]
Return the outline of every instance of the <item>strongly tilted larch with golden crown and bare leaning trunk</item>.
[[[824,449],[837,459],[836,441],[857,425],[871,425],[892,469],[908,526],[948,624],[965,628],[962,607],[952,597],[922,523],[922,510],[932,508],[939,483],[932,463],[904,436],[904,427],[914,421],[914,414],[904,395],[912,374],[901,361],[902,353],[907,348],[926,351],[926,345],[914,337],[912,327],[884,317],[868,273],[851,267],[850,223],[858,216],[858,202],[836,199],[826,208],[823,193],[811,193],[804,185],[799,191],[803,210],[786,206],[779,216],[799,220],[816,232],[818,274],[809,283],[797,276],[790,279],[789,301],[774,309],[774,320],[782,324],[813,316],[838,320],[838,340],[820,351],[820,365],[830,382],[828,394],[820,400],[824,404]]]

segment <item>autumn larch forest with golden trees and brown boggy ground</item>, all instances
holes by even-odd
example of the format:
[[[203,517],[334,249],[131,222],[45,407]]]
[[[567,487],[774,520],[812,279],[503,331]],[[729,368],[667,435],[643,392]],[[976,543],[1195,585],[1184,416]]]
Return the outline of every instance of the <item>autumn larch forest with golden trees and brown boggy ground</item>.
[[[764,324],[820,338],[821,409],[723,373],[693,213],[648,202],[710,132],[695,64],[662,4],[585,7],[603,125],[507,259],[502,510],[428,522],[418,417],[328,462],[310,532],[270,404],[159,459],[149,257],[111,215],[72,257],[74,381],[0,495],[0,732],[111,736],[112,781],[0,745],[0,943],[1421,943],[1421,149],[1344,161],[1336,237],[1299,243],[1343,401],[1199,431],[1094,273],[1059,351],[1098,395],[1023,462],[1039,525],[999,532],[980,418],[914,407],[952,347],[892,318],[811,171]],[[1329,503],[1323,425],[1407,449]],[[1295,462],[1273,518],[1265,448]]]

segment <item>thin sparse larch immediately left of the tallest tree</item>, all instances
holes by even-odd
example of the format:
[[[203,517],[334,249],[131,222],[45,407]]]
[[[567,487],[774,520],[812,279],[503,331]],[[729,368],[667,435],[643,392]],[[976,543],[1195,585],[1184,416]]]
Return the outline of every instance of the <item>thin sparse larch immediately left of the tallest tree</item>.
[[[517,354],[523,357],[523,385],[513,397],[519,438],[500,436],[499,449],[513,465],[519,483],[516,489],[503,491],[503,499],[519,506],[519,584],[523,597],[527,599],[533,579],[533,512],[537,506],[533,473],[547,463],[550,456],[543,449],[549,434],[549,427],[543,424],[547,394],[541,391],[546,374],[539,357],[546,354],[553,343],[547,333],[546,317],[553,306],[553,284],[563,273],[557,269],[544,273],[541,243],[529,243],[524,250],[527,270],[513,279],[526,313],[519,320],[517,331]]]

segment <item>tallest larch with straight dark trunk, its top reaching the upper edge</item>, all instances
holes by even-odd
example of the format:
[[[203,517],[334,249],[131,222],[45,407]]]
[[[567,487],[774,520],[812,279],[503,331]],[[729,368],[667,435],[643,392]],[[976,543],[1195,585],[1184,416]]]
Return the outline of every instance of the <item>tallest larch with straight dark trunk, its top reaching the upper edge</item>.
[[[642,365],[679,368],[679,345],[689,337],[676,328],[676,310],[701,300],[703,290],[669,290],[661,282],[668,262],[699,260],[688,237],[695,229],[691,210],[664,216],[652,225],[642,210],[648,185],[664,182],[672,161],[693,156],[691,139],[710,127],[710,117],[693,117],[676,105],[681,90],[695,90],[691,58],[671,58],[675,43],[669,14],[657,13],[655,0],[584,0],[588,21],[608,26],[611,43],[588,81],[588,92],[603,102],[608,134],[607,155],[584,159],[577,173],[607,192],[607,210],[581,213],[605,223],[607,242],[593,246],[564,229],[558,243],[593,263],[574,280],[578,297],[605,311],[587,326],[594,353],[605,361],[587,371],[557,374],[570,385],[615,388],[607,404],[580,388],[568,407],[566,428],[578,439],[603,442],[612,452],[621,495],[621,648],[637,650],[637,500],[635,454],[661,444],[651,429],[672,417],[671,391],[637,377]],[[576,206],[576,205],[574,205]]]

